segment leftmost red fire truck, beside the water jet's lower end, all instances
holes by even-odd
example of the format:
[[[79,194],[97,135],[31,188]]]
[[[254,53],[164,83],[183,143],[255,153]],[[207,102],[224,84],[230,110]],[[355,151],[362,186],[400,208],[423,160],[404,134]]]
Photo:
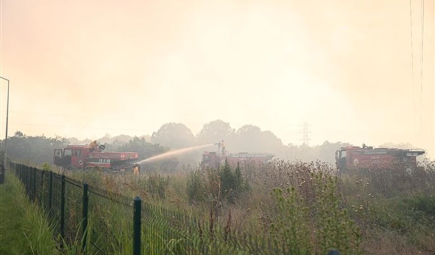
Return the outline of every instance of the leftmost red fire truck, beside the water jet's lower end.
[[[91,151],[87,145],[69,145],[54,150],[54,164],[66,168],[91,168],[98,166],[105,170],[124,171],[133,167],[138,159],[137,152],[103,152],[104,145]]]

